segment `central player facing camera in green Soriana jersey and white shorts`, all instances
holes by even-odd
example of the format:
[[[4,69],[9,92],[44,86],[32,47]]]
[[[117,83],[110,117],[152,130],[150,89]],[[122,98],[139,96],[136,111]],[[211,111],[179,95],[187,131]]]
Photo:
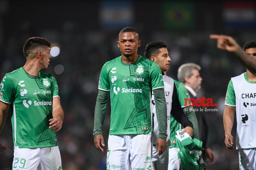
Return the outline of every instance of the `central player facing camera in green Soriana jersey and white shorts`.
[[[94,143],[103,152],[102,124],[110,93],[111,116],[107,150],[108,169],[151,169],[152,116],[151,90],[154,92],[159,123],[158,154],[166,149],[167,115],[164,82],[159,66],[137,54],[138,32],[131,27],[119,33],[121,56],[106,62],[99,78],[95,105]],[[101,146],[102,145],[102,146]]]

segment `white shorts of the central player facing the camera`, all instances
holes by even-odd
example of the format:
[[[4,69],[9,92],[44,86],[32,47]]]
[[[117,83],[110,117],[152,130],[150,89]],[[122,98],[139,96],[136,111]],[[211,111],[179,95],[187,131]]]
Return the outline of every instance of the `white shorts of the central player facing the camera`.
[[[109,135],[107,170],[151,169],[151,134]]]

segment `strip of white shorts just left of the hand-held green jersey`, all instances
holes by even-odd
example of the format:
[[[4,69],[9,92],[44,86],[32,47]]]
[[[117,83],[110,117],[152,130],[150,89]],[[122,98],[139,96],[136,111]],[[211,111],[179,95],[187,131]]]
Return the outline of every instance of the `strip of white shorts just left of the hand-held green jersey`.
[[[180,161],[178,158],[177,148],[169,148],[169,163],[168,170],[179,170],[180,169]]]

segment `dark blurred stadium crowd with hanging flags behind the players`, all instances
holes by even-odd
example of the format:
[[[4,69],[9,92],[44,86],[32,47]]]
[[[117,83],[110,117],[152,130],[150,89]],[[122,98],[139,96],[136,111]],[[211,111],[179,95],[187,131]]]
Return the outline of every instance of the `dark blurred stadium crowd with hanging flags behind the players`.
[[[113,15],[110,20],[104,20],[109,15]],[[254,1],[0,0],[0,78],[25,64],[22,50],[29,37],[44,37],[59,46],[60,55],[42,71],[57,79],[64,109],[64,123],[57,132],[62,168],[106,169],[109,109],[102,127],[106,144],[103,153],[95,148],[92,135],[99,74],[105,62],[121,55],[116,45],[118,34],[131,26],[139,32],[140,55],[144,55],[149,42],[168,45],[171,63],[167,74],[172,78],[177,79],[178,67],[183,63],[201,65],[203,81],[198,94],[218,103],[215,112],[207,112],[209,146],[216,155],[213,163],[207,163],[207,169],[238,169],[237,150],[228,150],[224,144],[222,118],[228,82],[246,68],[233,54],[217,49],[216,40],[209,39],[209,35],[231,35],[243,46],[256,37],[255,22]],[[56,65],[63,65],[62,74],[55,72]],[[232,132],[235,138],[234,127],[236,121]],[[0,170],[10,170],[10,116],[0,143],[8,149],[0,155]]]

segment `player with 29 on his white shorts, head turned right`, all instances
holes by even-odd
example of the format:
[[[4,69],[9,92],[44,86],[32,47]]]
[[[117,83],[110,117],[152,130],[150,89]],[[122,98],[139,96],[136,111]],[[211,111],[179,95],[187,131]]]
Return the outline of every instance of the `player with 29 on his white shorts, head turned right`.
[[[50,45],[45,38],[29,38],[23,47],[26,64],[6,73],[1,81],[0,132],[10,108],[13,170],[62,168],[56,132],[62,127],[64,112],[58,85],[52,74],[40,71],[49,65]]]

